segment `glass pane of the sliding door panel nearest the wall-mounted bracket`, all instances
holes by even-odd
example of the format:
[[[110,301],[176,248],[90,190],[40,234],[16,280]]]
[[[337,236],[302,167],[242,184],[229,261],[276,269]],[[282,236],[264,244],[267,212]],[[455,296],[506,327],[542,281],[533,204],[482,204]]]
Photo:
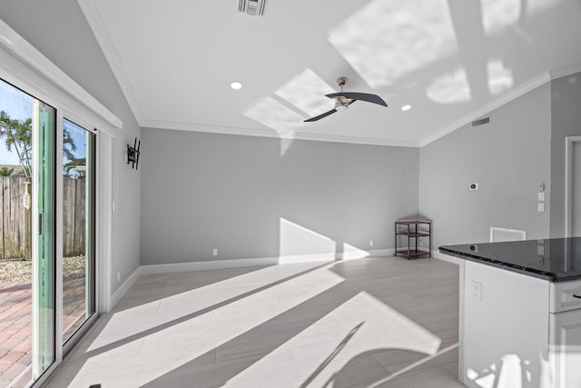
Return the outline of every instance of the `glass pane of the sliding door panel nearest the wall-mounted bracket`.
[[[95,312],[95,134],[63,122],[63,343]]]

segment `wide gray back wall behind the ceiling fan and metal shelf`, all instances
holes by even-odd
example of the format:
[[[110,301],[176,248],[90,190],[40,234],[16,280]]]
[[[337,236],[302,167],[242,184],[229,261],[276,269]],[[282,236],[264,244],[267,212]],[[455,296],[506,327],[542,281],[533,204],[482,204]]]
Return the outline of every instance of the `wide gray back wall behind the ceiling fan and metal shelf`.
[[[142,264],[393,247],[419,150],[143,129]],[[212,248],[218,256],[212,257]]]

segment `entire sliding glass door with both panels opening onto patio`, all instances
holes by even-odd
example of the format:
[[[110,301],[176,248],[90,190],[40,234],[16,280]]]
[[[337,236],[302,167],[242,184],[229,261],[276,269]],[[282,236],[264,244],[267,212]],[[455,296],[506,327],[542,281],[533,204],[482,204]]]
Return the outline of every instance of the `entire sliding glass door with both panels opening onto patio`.
[[[96,134],[62,117],[0,79],[0,386],[41,378],[96,317]]]

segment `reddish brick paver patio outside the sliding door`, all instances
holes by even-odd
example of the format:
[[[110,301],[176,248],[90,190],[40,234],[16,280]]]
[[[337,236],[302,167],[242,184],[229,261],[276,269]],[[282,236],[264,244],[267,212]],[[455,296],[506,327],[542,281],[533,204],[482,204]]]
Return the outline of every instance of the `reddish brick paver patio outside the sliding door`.
[[[66,337],[84,321],[77,320],[84,315],[84,277],[65,280],[63,288]],[[0,387],[30,382],[32,344],[32,284],[0,284]]]

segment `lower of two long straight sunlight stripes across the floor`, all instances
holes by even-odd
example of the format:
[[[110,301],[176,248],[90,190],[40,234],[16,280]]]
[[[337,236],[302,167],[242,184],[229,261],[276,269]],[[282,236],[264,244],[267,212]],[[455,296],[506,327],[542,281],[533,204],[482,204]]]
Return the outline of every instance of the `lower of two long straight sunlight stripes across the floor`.
[[[328,270],[329,266],[98,353],[86,360],[71,385],[94,383],[91,378],[95,373],[99,375],[95,372],[99,370],[107,371],[101,373],[103,386],[140,386],[152,382],[343,282],[342,277]],[[196,291],[193,290],[184,303],[195,304],[198,299],[212,298],[208,289],[201,293]],[[138,323],[133,315],[126,318]],[[114,327],[111,330],[114,331]]]

